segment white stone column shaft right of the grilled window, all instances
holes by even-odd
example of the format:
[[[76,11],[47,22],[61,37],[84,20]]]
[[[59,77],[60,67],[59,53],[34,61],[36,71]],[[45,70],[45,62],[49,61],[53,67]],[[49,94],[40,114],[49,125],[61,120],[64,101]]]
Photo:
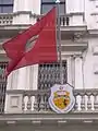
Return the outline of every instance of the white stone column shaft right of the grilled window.
[[[83,75],[82,57],[77,56],[75,58],[75,88],[83,88]]]

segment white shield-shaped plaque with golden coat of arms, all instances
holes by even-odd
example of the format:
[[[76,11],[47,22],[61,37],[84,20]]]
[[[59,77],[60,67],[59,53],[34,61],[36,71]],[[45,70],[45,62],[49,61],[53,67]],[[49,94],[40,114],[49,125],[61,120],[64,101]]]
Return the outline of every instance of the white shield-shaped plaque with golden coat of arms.
[[[54,84],[51,87],[49,105],[58,114],[69,112],[75,104],[73,87],[70,84]]]

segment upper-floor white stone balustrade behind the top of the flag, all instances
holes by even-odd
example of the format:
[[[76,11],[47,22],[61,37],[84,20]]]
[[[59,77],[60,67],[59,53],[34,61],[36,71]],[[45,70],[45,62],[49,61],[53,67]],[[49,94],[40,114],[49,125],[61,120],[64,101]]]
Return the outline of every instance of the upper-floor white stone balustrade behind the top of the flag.
[[[20,15],[22,12],[20,12]],[[2,13],[0,14],[0,25],[11,25],[13,24],[13,20],[16,13]],[[42,15],[30,14],[29,15],[29,24],[35,23],[36,21],[40,20]],[[79,17],[79,22],[74,24],[75,16]],[[60,25],[61,26],[73,26],[73,25],[84,25],[83,22],[83,14],[69,14],[69,15],[60,15]]]

